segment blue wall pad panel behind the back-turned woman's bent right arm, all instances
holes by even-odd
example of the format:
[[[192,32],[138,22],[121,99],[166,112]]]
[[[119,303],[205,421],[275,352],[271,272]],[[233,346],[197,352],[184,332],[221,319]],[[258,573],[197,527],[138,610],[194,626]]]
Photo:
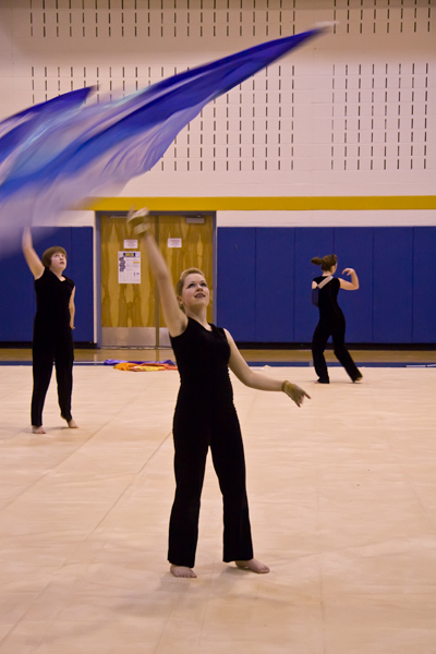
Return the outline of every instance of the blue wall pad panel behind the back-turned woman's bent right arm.
[[[354,268],[359,277],[358,291],[339,291],[338,302],[347,322],[346,339],[351,343],[373,340],[373,250],[374,229],[371,227],[335,228],[335,254],[338,255],[336,277],[348,281],[344,268]]]

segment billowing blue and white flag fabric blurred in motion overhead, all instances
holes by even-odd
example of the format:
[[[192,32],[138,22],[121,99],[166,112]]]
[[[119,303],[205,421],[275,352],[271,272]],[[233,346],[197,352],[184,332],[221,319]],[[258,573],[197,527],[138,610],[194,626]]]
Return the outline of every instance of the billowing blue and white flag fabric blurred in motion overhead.
[[[119,99],[84,105],[94,89],[71,92],[1,122],[0,253],[20,245],[24,226],[119,192],[207,102],[323,32],[261,44]]]

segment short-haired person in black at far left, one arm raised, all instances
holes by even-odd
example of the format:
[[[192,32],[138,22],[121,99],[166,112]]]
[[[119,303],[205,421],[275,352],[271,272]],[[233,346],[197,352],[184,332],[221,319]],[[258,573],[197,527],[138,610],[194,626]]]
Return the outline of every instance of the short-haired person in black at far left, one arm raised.
[[[74,347],[74,281],[63,275],[66,252],[53,246],[46,250],[43,261],[36,254],[29,229],[23,233],[23,254],[35,277],[36,315],[33,338],[32,431],[45,434],[43,408],[50,384],[53,362],[58,382],[61,416],[72,429],[77,428],[71,415]]]

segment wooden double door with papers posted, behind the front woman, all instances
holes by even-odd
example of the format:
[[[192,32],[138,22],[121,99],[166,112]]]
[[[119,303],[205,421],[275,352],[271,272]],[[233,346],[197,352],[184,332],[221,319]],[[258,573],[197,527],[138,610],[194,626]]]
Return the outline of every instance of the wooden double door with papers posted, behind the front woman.
[[[152,215],[155,238],[175,283],[186,268],[204,271],[213,319],[214,217]],[[101,346],[168,347],[159,295],[144,245],[125,215],[100,216]]]

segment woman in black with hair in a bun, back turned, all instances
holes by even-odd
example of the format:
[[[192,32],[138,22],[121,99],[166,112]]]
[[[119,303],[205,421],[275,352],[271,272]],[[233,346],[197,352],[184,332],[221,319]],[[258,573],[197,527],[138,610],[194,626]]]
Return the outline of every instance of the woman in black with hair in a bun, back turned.
[[[320,277],[315,277],[313,280],[312,289],[315,289],[318,284],[323,283],[327,277],[335,275],[338,268],[338,257],[336,254],[328,254],[323,258],[315,256],[311,259],[311,263],[320,266],[320,269],[323,270],[323,275]],[[346,318],[338,304],[339,289],[356,291],[359,289],[359,279],[353,268],[344,268],[342,275],[344,274],[351,277],[351,281],[336,277],[330,281],[327,281],[318,290],[319,323],[316,326],[312,340],[312,354],[315,371],[319,377],[317,380],[318,384],[329,384],[324,351],[330,336],[334,341],[335,355],[343,365],[352,382],[360,382],[362,379],[362,374],[355,366],[355,363],[351,359],[350,352],[344,344]]]

